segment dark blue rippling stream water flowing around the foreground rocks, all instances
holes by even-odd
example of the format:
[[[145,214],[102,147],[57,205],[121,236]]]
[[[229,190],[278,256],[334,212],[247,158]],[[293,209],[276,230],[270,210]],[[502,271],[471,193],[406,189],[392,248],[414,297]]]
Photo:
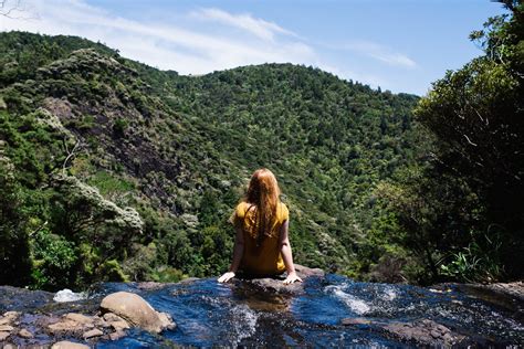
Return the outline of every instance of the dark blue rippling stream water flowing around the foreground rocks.
[[[303,293],[286,296],[262,292],[249,283],[219,284],[216,279],[197,279],[149,290],[135,284],[106,283],[97,285],[87,299],[73,304],[95,308],[104,295],[118,290],[142,295],[155,309],[170,314],[177,327],[160,335],[133,329],[129,336],[117,341],[98,341],[97,348],[399,347],[409,343],[396,339],[380,326],[418,319],[434,320],[467,336],[465,345],[518,347],[524,343],[522,299],[494,296],[464,285],[422,288],[357,283],[327,275],[306,279]],[[20,308],[12,302],[10,309]],[[6,303],[0,302],[0,305]],[[6,306],[1,310],[6,310]],[[67,305],[61,304],[54,311],[69,310]],[[345,318],[364,322],[344,326]]]

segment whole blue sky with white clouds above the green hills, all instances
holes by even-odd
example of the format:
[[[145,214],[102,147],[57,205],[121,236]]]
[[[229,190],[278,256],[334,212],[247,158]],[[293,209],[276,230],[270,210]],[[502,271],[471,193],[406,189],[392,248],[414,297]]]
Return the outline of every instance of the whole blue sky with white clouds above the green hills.
[[[418,95],[480,55],[469,33],[504,12],[489,0],[22,0],[21,10],[0,30],[81,35],[180,74],[291,62]]]

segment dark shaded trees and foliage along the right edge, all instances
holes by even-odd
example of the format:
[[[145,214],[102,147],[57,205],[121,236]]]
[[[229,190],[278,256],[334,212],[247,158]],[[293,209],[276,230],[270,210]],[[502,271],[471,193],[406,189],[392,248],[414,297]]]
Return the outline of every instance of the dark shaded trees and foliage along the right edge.
[[[425,246],[418,253],[433,279],[523,276],[524,8],[511,8],[472,33],[485,55],[448,72],[416,109],[433,139],[431,158],[391,202],[404,244]]]

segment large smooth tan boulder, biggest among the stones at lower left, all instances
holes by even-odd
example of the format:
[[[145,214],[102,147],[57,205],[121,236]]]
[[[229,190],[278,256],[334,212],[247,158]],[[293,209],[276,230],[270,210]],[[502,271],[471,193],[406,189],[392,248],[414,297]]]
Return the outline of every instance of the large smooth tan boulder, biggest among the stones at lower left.
[[[106,296],[101,303],[102,313],[114,313],[133,326],[158,334],[175,324],[169,315],[156,311],[144,298],[128,292]]]

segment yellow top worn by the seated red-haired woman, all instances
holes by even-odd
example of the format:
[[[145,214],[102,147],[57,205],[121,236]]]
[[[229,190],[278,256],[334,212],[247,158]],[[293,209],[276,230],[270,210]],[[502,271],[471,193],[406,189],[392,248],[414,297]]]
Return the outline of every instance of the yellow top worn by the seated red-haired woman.
[[[240,269],[258,275],[281,274],[285,272],[285,265],[279,246],[280,229],[289,219],[290,211],[284,203],[279,202],[271,235],[266,236],[262,245],[258,247],[254,210],[249,210],[250,207],[248,202],[239,203],[232,216],[234,226],[241,228],[244,236],[244,253]]]

